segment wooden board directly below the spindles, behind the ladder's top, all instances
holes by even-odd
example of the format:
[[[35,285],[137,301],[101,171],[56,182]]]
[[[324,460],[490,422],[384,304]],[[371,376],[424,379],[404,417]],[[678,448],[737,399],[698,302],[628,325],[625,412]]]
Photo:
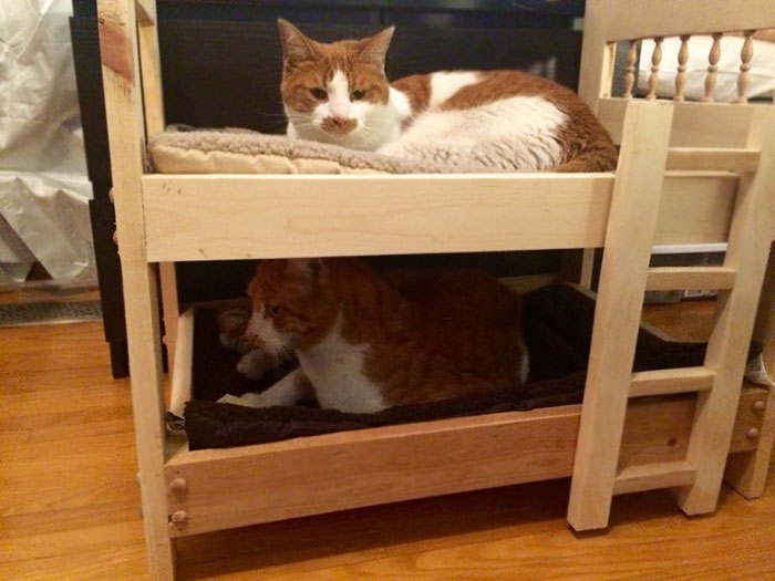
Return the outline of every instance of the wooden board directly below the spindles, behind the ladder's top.
[[[600,98],[598,116],[614,143],[621,143],[624,110],[631,100]],[[728,103],[675,103],[671,147],[747,148],[748,132],[764,105]]]

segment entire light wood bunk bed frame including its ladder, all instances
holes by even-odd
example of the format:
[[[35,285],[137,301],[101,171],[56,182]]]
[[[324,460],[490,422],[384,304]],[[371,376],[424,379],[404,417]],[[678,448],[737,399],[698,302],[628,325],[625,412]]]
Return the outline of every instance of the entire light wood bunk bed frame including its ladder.
[[[587,1],[580,94],[621,144],[616,173],[190,176],[144,170],[145,138],[164,128],[155,1],[97,0],[152,578],[174,577],[180,536],[571,475],[568,520],[576,530],[606,527],[612,495],[652,488],[678,487],[688,515],[711,512],[730,453],[727,480],[761,495],[775,402],[761,387],[741,396],[741,385],[755,322],[761,339],[771,341],[775,330],[772,258],[767,266],[775,107],[745,98],[683,102],[681,74],[674,102],[655,100],[659,49],[649,96],[632,98],[634,44],[626,96],[611,97],[610,87],[617,42],[744,30],[744,95],[747,31],[775,28],[769,4]],[[728,242],[723,267],[649,268],[652,245],[688,242]],[[186,381],[192,357],[190,315],[178,321],[175,261],[600,247],[580,406],[232,449],[189,452],[165,436],[159,271],[166,340],[180,374],[174,381]],[[578,269],[585,281],[590,264],[587,250]],[[721,290],[705,364],[633,374],[644,291],[698,287]]]

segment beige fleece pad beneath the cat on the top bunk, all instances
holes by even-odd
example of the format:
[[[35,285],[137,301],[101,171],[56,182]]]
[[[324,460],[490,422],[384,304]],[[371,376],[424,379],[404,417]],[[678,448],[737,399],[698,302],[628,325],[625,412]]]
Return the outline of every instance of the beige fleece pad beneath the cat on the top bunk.
[[[503,172],[482,165],[451,166],[248,129],[166,131],[148,153],[161,174],[450,174]]]

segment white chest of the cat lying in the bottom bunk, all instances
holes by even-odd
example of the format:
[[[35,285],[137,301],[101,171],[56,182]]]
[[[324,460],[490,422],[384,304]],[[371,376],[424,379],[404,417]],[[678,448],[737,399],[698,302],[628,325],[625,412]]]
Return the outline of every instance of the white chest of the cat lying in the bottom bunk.
[[[340,323],[320,343],[297,356],[321,407],[371,413],[386,406],[382,392],[364,373],[368,345],[344,341]]]

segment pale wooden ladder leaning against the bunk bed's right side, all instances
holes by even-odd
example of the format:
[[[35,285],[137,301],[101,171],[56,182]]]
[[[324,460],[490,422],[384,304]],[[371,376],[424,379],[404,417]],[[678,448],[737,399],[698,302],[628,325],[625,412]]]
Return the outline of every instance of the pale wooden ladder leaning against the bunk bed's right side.
[[[763,107],[760,120],[768,133],[752,134],[757,163],[741,174],[724,264],[649,268],[670,166],[673,110],[670,103],[628,105],[568,508],[568,521],[578,531],[607,527],[617,494],[680,487],[679,504],[688,515],[715,509],[773,236],[775,124],[767,123],[769,108]],[[698,288],[720,290],[704,364],[633,373],[644,292]],[[628,400],[685,392],[698,392],[685,459],[620,469]]]

